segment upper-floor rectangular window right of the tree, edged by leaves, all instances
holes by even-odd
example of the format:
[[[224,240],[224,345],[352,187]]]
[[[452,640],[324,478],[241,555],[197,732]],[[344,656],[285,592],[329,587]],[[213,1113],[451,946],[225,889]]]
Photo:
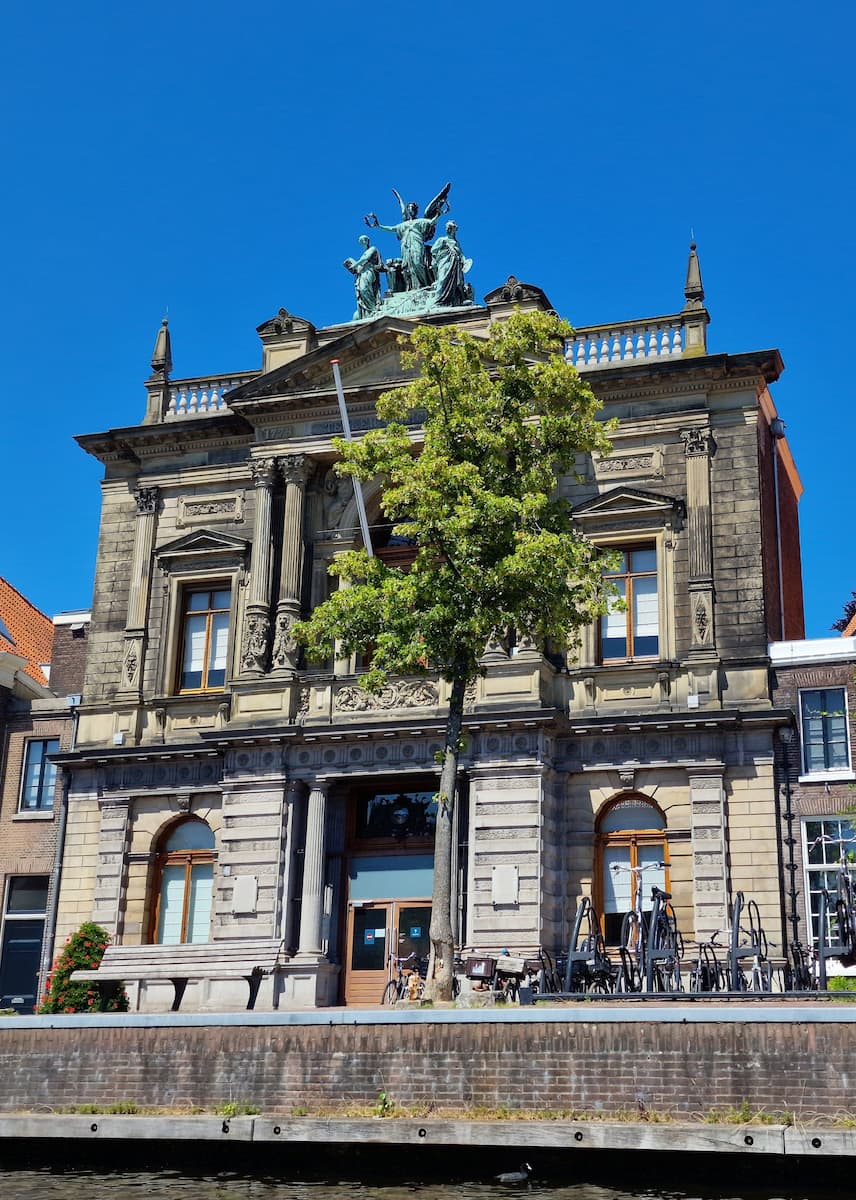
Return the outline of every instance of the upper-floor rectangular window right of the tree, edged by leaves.
[[[622,551],[618,568],[606,571],[606,578],[623,604],[613,604],[600,618],[601,661],[656,659],[660,652],[656,547]]]

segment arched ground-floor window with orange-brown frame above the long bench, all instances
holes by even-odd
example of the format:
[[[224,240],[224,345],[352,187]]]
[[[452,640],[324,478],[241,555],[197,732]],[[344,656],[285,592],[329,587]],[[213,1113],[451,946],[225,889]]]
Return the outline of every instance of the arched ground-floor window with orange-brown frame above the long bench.
[[[157,854],[152,941],[208,942],[214,894],[214,833],[190,817],[172,826]]]

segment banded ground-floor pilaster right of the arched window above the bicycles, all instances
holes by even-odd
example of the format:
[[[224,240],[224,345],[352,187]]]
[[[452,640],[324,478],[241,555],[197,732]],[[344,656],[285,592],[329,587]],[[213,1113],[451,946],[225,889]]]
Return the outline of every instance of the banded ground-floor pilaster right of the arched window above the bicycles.
[[[729,920],[723,768],[690,770],[693,913],[695,936],[710,937]]]

